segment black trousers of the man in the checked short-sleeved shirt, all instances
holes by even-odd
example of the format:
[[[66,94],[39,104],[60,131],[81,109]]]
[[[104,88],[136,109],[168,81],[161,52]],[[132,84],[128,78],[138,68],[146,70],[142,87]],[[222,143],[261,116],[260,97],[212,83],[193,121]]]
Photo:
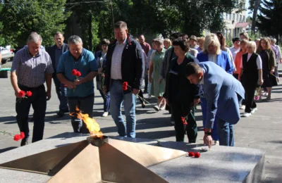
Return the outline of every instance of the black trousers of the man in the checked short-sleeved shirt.
[[[32,108],[34,110],[32,142],[42,140],[44,133],[44,119],[47,107],[45,87],[44,85],[41,85],[37,88],[30,88],[20,85],[19,87],[25,92],[32,92],[32,96],[27,97],[27,99],[16,99],[16,118],[20,132],[25,133],[25,140],[30,137],[30,129],[28,127],[28,114],[30,113],[30,106],[32,105]]]

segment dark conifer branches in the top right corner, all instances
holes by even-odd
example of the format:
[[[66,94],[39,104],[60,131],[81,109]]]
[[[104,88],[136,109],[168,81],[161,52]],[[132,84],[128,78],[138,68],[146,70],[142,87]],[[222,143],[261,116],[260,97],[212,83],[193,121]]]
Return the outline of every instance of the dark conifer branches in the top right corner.
[[[282,29],[282,1],[262,0],[257,15],[257,27],[265,35],[274,36],[278,39]]]

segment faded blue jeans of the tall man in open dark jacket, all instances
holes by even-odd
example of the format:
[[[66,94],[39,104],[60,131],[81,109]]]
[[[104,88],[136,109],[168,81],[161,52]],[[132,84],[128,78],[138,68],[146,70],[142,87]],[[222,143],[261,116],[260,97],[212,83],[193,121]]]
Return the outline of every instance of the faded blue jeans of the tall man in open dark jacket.
[[[116,127],[118,127],[119,136],[135,138],[136,96],[132,92],[123,94],[123,83],[121,80],[112,80],[110,92],[111,117],[114,119]],[[126,124],[121,113],[122,103],[124,105]]]

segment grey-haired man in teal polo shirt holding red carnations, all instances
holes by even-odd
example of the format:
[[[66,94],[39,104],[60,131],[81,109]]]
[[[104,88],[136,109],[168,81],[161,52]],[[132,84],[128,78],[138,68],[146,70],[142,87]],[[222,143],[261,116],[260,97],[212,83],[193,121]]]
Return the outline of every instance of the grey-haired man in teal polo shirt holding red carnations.
[[[75,115],[75,108],[88,114],[92,118],[94,103],[94,77],[97,75],[98,66],[91,51],[83,49],[80,37],[73,35],[68,39],[69,51],[63,53],[57,67],[57,77],[66,84],[68,107],[71,117],[71,124],[74,132],[89,133],[86,125]],[[72,74],[73,69],[81,72],[80,77]]]

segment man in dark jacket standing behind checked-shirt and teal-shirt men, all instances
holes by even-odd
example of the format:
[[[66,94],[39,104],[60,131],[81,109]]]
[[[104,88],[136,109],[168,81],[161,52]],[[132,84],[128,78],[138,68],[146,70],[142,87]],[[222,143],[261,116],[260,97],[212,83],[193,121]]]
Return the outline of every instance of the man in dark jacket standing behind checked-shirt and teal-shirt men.
[[[56,93],[60,101],[59,112],[57,113],[59,117],[63,117],[64,113],[68,113],[68,99],[66,97],[66,87],[64,87],[64,84],[62,84],[56,76],[56,68],[58,66],[60,57],[63,53],[68,51],[68,44],[64,44],[63,40],[63,33],[56,32],[56,34],[54,35],[54,42],[56,44],[47,49],[55,71],[53,74],[53,80],[56,86]]]

